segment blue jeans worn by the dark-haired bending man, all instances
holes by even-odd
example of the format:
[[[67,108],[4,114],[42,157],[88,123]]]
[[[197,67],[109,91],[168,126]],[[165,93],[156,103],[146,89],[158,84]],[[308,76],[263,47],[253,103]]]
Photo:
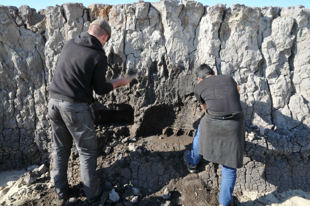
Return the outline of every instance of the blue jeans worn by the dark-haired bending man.
[[[198,153],[199,149],[199,128],[196,129],[196,133],[192,143],[192,151],[188,155],[188,162],[197,165],[201,159],[201,155]],[[222,183],[219,191],[219,204],[229,205],[232,201],[232,192],[235,187],[237,178],[237,169],[222,165]]]

